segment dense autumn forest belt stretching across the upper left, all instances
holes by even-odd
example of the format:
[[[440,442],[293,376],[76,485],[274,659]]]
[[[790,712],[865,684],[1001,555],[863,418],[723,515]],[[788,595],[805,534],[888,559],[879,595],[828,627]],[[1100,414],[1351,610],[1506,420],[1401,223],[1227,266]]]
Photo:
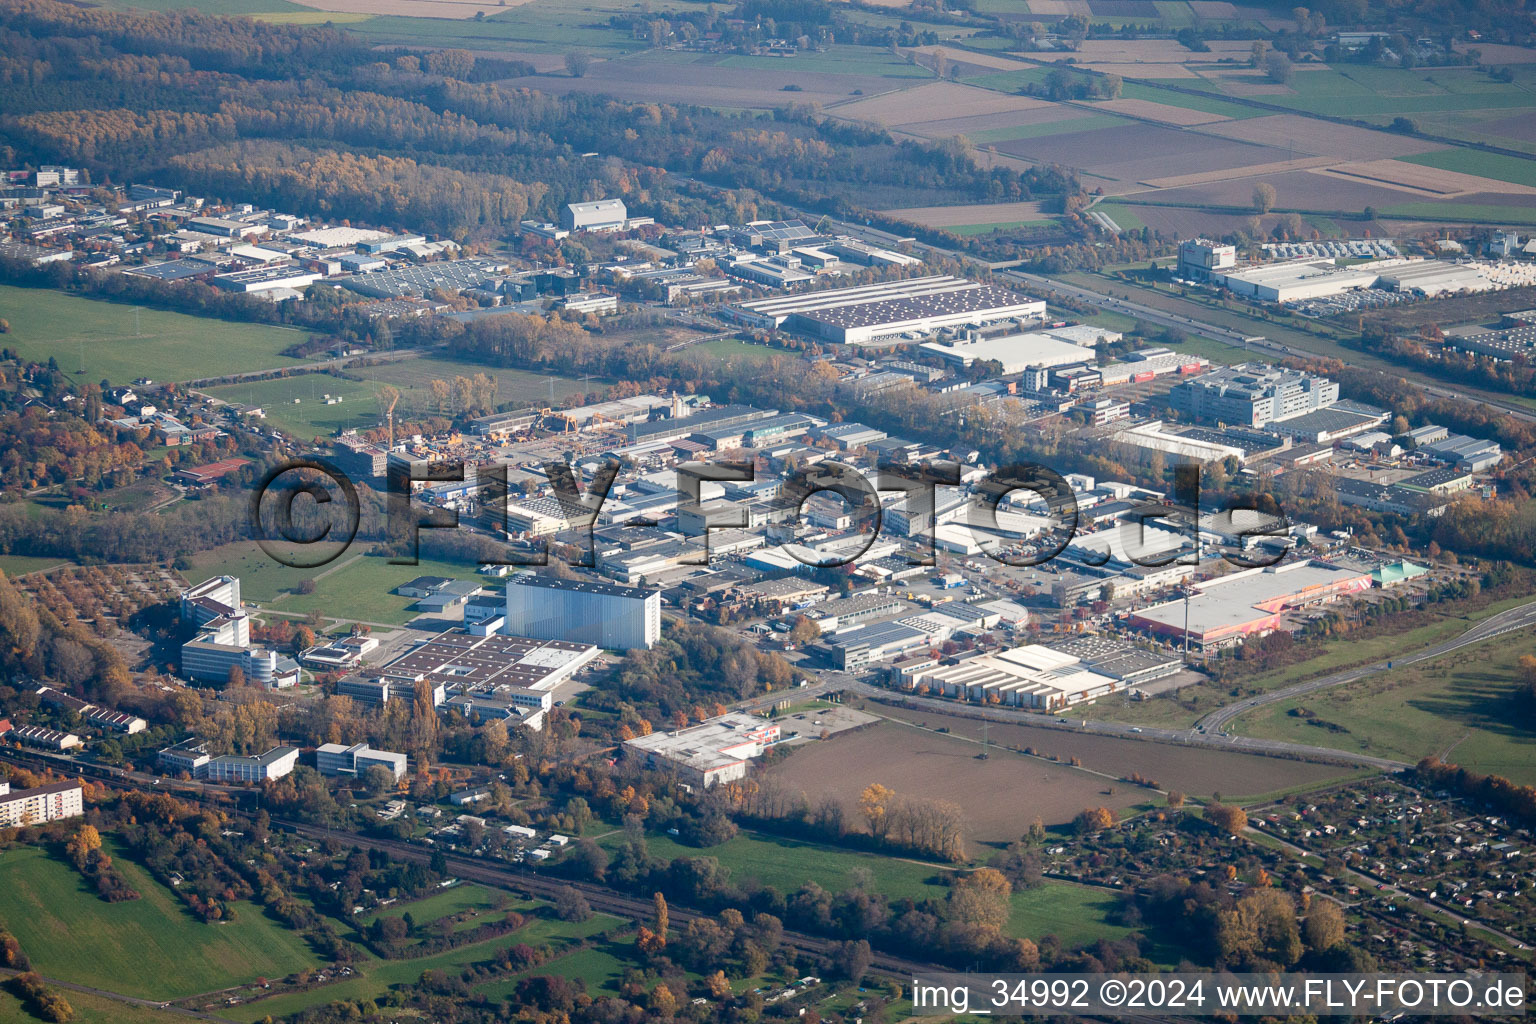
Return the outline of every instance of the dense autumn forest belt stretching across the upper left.
[[[65,161],[94,181],[154,180],[461,241],[504,238],[519,220],[605,195],[691,224],[771,213],[754,193],[848,215],[872,186],[914,203],[1077,192],[1055,167],[983,169],[960,147],[809,109],[547,95],[484,80],[505,61],[386,54],[323,26],[22,0],[0,11],[0,54],[6,164]]]

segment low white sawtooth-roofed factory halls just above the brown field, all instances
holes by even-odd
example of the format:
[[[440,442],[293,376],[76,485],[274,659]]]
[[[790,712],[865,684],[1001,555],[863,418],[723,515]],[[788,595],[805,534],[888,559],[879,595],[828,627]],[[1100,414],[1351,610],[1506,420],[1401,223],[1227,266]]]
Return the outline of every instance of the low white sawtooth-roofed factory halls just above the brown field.
[[[982,654],[957,665],[929,662],[903,668],[902,685],[908,689],[926,686],[929,692],[960,700],[1041,711],[1060,711],[1123,686],[1118,679],[1089,671],[1072,654],[1038,643]]]

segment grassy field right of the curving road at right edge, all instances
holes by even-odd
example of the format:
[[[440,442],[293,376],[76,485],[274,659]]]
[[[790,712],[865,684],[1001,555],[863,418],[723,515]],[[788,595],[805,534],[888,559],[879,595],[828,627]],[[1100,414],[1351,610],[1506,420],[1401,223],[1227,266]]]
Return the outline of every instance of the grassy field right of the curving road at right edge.
[[[1536,729],[1516,666],[1528,652],[1521,643],[1479,643],[1453,657],[1256,708],[1232,728],[1409,763],[1433,754],[1536,785]]]

